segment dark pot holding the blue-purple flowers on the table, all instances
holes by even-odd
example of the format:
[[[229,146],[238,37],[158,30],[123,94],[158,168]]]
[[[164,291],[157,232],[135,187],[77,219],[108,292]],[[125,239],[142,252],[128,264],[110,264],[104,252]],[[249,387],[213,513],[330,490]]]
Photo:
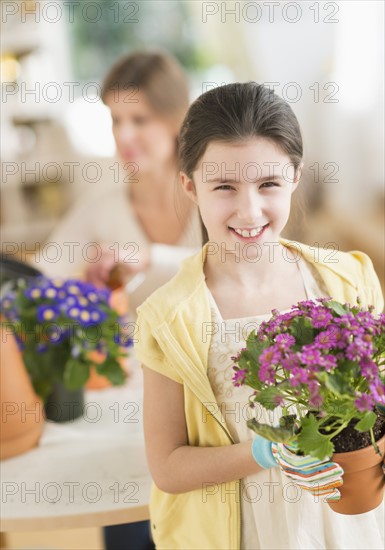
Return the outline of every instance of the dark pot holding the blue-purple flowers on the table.
[[[55,382],[45,405],[47,420],[54,422],[71,422],[83,413],[84,388],[68,390],[60,382]]]

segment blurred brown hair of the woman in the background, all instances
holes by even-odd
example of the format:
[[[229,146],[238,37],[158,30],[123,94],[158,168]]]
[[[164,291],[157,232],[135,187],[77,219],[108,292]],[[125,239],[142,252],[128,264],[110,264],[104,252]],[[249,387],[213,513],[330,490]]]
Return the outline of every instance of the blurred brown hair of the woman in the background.
[[[104,79],[102,100],[106,103],[111,93],[117,98],[120,91],[133,92],[133,99],[135,91],[143,92],[151,107],[179,130],[189,105],[189,86],[181,65],[171,55],[135,52],[118,60]]]

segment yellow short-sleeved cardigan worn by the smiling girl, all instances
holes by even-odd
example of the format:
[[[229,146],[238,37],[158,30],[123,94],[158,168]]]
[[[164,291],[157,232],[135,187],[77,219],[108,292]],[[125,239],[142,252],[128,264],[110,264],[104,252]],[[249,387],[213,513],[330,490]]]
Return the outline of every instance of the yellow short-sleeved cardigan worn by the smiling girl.
[[[384,306],[377,275],[362,252],[314,249],[281,239],[314,265],[330,296],[363,307]],[[217,447],[233,440],[207,377],[210,306],[203,264],[207,245],[183,262],[177,275],[138,309],[136,356],[142,364],[183,384],[189,445]],[[315,261],[316,260],[316,261]],[[240,547],[240,481],[206,484],[182,494],[168,494],[153,485],[151,528],[159,550]]]

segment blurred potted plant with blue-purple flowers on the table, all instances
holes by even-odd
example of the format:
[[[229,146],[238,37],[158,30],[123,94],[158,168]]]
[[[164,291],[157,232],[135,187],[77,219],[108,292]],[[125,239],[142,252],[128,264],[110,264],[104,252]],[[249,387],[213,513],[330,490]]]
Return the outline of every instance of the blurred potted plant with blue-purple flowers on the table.
[[[122,319],[109,305],[110,291],[78,280],[41,276],[19,279],[1,300],[6,329],[19,344],[26,369],[47,418],[64,421],[82,413],[82,393],[94,367],[92,352],[103,354],[96,365],[112,384],[122,384],[126,373],[120,359],[122,346],[131,340],[124,334]],[[71,397],[66,392],[78,392]],[[63,407],[56,403],[64,394]],[[67,400],[67,401],[65,401]],[[68,410],[69,409],[69,410]],[[66,410],[70,417],[66,417]]]

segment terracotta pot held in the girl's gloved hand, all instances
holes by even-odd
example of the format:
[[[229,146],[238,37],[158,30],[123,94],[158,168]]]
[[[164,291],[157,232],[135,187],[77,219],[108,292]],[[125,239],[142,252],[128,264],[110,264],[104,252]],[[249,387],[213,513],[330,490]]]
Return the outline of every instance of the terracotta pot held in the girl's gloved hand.
[[[346,515],[365,514],[381,504],[385,488],[382,471],[385,435],[377,441],[377,445],[382,457],[375,452],[372,445],[358,451],[333,455],[333,461],[344,469],[344,484],[340,487],[341,500],[329,503],[334,512]]]

